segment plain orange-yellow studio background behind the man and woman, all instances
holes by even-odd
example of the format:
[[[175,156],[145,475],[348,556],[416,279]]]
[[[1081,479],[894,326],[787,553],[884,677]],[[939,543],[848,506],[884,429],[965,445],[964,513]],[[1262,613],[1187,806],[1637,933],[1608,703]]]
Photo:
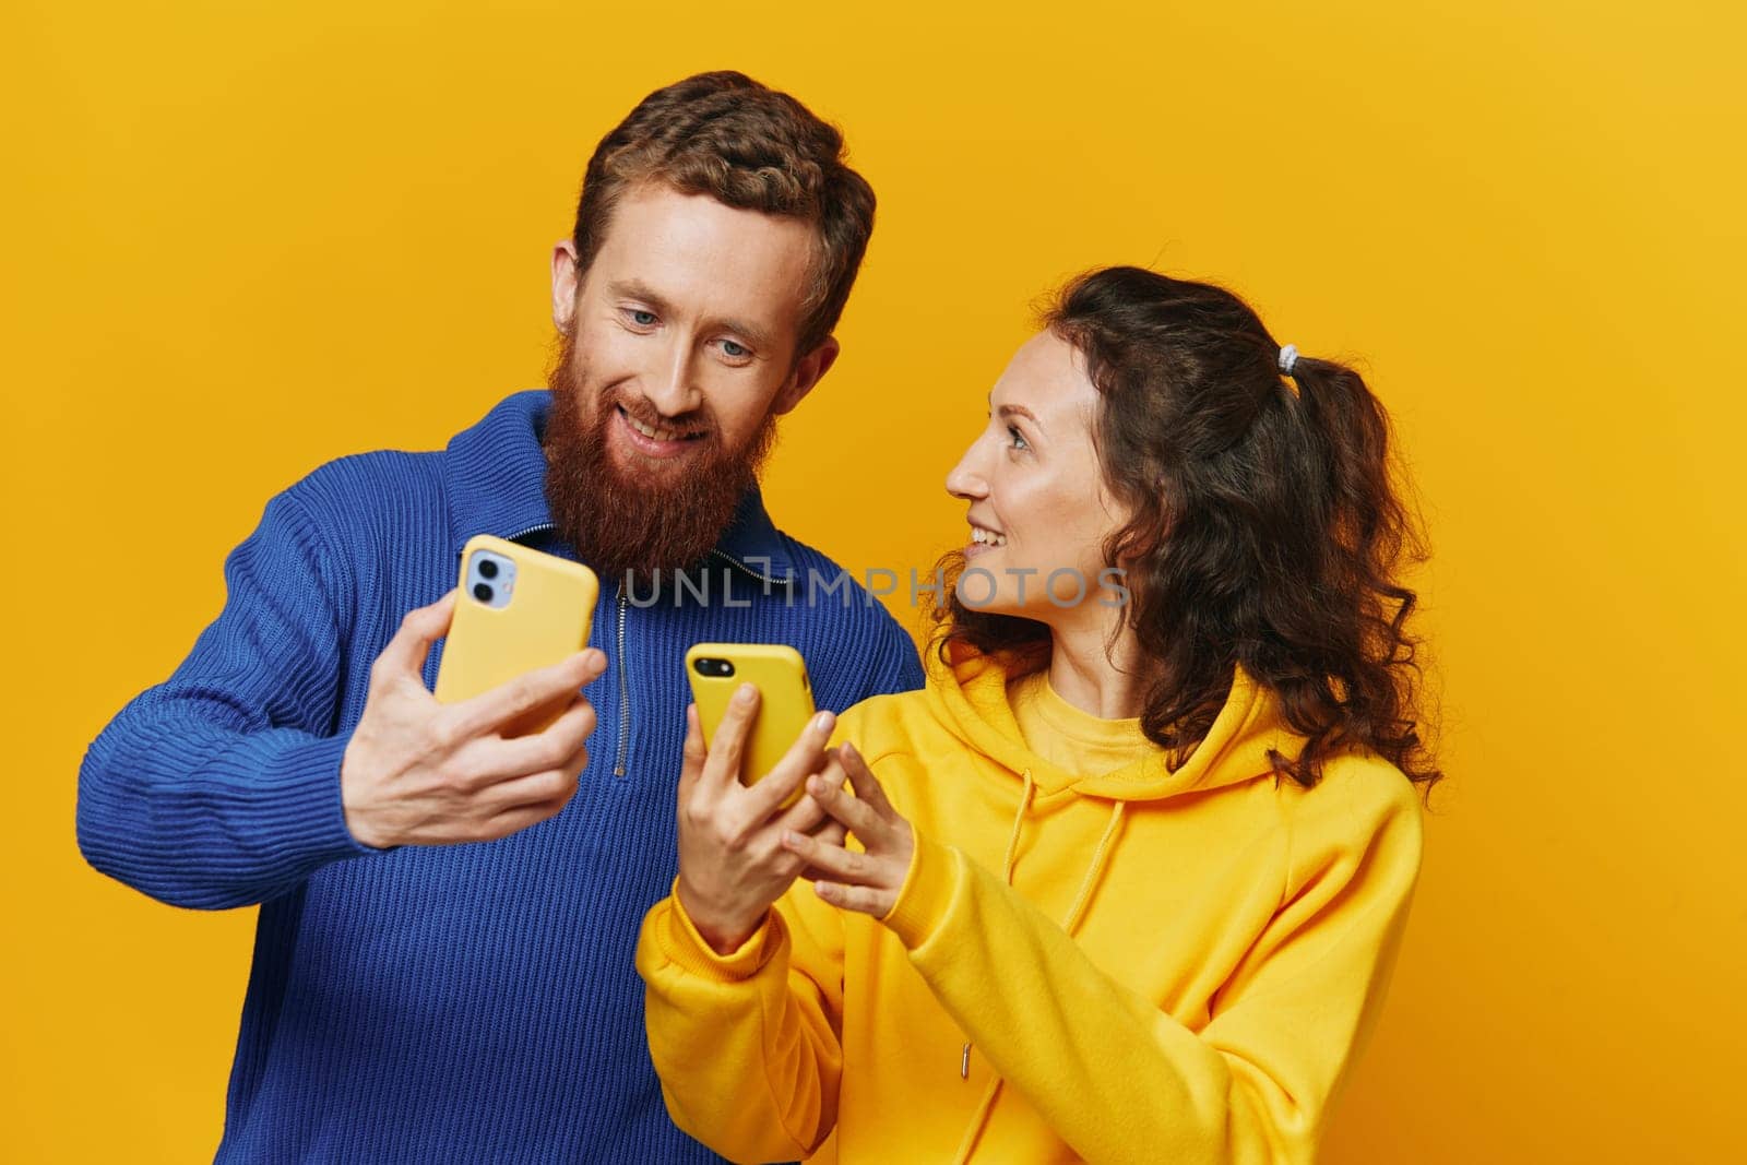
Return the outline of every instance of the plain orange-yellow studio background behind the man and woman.
[[[594,141],[734,66],[844,124],[880,199],[767,487],[844,562],[963,534],[942,477],[1088,265],[1228,281],[1392,409],[1452,781],[1328,1160],[1744,1160],[1738,5],[5,0],[3,30],[0,1158],[210,1156],[253,912],[86,868],[82,749],[274,491],[538,383]]]

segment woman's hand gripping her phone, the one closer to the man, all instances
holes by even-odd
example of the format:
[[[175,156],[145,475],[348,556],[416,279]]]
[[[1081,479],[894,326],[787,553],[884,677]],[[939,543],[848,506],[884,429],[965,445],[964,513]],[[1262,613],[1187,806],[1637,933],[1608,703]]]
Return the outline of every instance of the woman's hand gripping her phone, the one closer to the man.
[[[685,765],[680,772],[680,905],[718,954],[739,948],[763,926],[772,903],[809,873],[784,849],[800,833],[842,845],[842,826],[812,798],[783,802],[819,774],[826,784],[847,779],[835,751],[826,753],[835,718],[818,713],[777,765],[755,784],[741,784],[741,755],[758,714],[758,688],[741,685],[704,748],[697,707],[685,714]]]

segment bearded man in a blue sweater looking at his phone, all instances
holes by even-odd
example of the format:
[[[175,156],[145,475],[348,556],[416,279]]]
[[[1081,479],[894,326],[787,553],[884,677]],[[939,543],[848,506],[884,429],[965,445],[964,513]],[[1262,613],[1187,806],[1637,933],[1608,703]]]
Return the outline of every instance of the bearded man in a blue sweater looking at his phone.
[[[840,155],[739,73],[650,94],[554,250],[549,391],[274,498],[218,620],[91,746],[91,865],[262,905],[220,1160],[715,1160],[662,1107],[632,966],[674,877],[683,653],[790,643],[839,711],[921,685],[865,592],[809,601],[837,568],[756,489],[872,229]],[[589,651],[442,706],[430,648],[477,533],[590,564],[601,604]]]

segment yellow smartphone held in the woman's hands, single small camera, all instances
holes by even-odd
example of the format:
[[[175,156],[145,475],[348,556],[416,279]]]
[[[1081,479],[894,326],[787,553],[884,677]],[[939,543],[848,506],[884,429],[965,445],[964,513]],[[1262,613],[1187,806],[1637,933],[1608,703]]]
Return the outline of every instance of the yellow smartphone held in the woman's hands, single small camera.
[[[742,683],[758,688],[758,716],[741,756],[741,784],[749,786],[770,772],[812,720],[807,662],[795,648],[777,643],[699,643],[685,653],[685,674],[692,681],[706,746],[716,739],[716,727],[735,688]],[[798,802],[800,795],[802,789],[795,789],[783,807]]]

